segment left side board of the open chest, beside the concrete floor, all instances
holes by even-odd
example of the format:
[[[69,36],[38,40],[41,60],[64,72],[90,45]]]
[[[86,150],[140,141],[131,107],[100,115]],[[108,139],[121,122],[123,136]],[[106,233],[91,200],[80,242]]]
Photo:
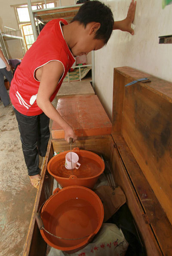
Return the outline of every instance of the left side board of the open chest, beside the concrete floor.
[[[40,206],[46,199],[52,194],[53,178],[49,175],[46,167],[49,159],[53,156],[52,142],[49,140],[47,147],[47,153],[43,163],[43,169],[41,171],[41,181],[37,190],[37,196],[34,203],[34,209],[31,216],[31,223],[28,230],[28,235],[23,251],[23,256],[45,256],[46,242],[43,240],[40,230],[37,226],[35,214],[40,209]],[[46,178],[45,178],[46,177]]]

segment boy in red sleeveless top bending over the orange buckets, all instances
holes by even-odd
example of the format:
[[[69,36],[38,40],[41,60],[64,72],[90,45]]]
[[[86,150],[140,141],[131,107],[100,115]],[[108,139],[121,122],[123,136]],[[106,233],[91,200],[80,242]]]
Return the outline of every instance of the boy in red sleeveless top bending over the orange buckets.
[[[72,22],[64,19],[48,22],[37,41],[18,66],[10,88],[28,175],[34,187],[40,181],[39,155],[46,155],[49,118],[64,129],[65,140],[77,136],[52,105],[61,83],[73,65],[74,56],[101,49],[113,29],[134,34],[131,23],[136,2],[132,0],[126,19],[114,23],[111,9],[95,0],[84,3]],[[39,155],[38,155],[39,154]]]

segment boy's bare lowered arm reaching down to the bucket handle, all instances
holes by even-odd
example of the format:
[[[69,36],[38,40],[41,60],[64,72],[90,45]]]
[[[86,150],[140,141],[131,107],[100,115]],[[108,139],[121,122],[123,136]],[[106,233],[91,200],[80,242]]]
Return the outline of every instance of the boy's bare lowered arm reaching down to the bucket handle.
[[[64,129],[65,140],[69,142],[69,138],[77,139],[73,128],[58,113],[50,102],[50,97],[55,91],[58,81],[64,72],[63,65],[58,61],[51,61],[43,66],[40,86],[37,94],[37,105],[43,112],[53,121],[57,122]]]

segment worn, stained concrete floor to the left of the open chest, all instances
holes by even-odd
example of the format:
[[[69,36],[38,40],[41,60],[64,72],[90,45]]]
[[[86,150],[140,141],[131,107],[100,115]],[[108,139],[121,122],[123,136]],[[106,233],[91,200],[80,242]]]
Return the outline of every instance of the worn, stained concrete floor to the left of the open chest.
[[[53,105],[57,106],[56,97]],[[28,177],[14,111],[12,106],[4,108],[1,101],[0,256],[22,256],[36,194]]]

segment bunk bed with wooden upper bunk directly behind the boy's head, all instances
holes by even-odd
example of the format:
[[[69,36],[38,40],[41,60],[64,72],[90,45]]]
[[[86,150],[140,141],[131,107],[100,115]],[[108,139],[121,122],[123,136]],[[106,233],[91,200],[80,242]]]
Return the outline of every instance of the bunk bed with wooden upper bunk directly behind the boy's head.
[[[76,1],[75,1],[76,3]],[[61,4],[61,2],[60,2]],[[46,5],[46,0],[45,0]],[[73,17],[77,14],[81,4],[74,4],[70,6],[58,6],[54,8],[46,8],[46,9],[35,9],[32,10],[31,0],[28,0],[28,10],[31,18],[31,25],[34,33],[34,40],[36,41],[38,34],[40,33],[39,22],[46,24],[52,19],[63,18],[71,21]],[[92,70],[92,87],[95,88],[95,78],[94,78],[94,51],[92,51],[92,64],[84,65],[84,66],[73,66],[74,69],[79,69],[77,74],[79,75],[78,80],[81,81],[82,73],[86,74],[89,70]],[[72,73],[72,72],[71,72]],[[65,81],[71,81],[71,74],[67,74]],[[76,80],[75,80],[76,81]]]

